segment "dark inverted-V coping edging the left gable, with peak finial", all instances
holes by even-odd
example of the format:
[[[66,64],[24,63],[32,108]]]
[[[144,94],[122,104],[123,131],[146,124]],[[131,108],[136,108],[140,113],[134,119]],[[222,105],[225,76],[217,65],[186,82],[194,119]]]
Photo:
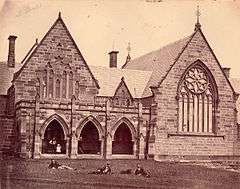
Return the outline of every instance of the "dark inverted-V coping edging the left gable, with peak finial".
[[[40,41],[40,43],[36,46],[36,48],[34,48],[31,52],[31,54],[28,56],[28,58],[25,60],[23,66],[21,67],[21,69],[15,74],[14,76],[14,80],[20,75],[21,71],[23,70],[23,68],[27,65],[28,61],[31,59],[31,57],[34,55],[34,53],[37,51],[37,49],[41,46],[42,42],[44,41],[44,39],[48,36],[48,34],[53,30],[53,28],[57,25],[57,23],[60,22],[62,24],[62,26],[64,27],[64,29],[67,32],[68,37],[70,38],[70,40],[73,42],[74,47],[76,48],[78,54],[81,56],[84,64],[86,65],[91,77],[93,78],[96,86],[99,88],[98,82],[95,79],[94,75],[92,74],[91,70],[89,69],[89,66],[87,65],[84,57],[82,56],[77,44],[75,43],[74,39],[72,38],[72,35],[70,34],[67,26],[65,25],[65,23],[63,22],[62,18],[61,18],[61,13],[59,12],[59,16],[57,18],[57,20],[54,22],[54,24],[51,26],[51,28],[48,30],[48,32],[45,34],[45,36],[42,38],[42,40]]]

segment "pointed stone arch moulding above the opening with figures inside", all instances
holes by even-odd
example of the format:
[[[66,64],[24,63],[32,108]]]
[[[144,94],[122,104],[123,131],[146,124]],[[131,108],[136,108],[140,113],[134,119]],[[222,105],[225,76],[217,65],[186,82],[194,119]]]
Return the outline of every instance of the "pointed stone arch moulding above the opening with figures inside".
[[[68,135],[69,135],[69,129],[68,129],[68,126],[66,124],[66,122],[64,121],[64,119],[59,116],[58,114],[53,114],[51,115],[41,126],[40,130],[39,130],[39,133],[40,133],[40,136],[41,136],[41,139],[44,139],[44,133],[46,131],[46,128],[47,126],[52,122],[56,120],[61,126],[62,126],[62,129],[63,129],[63,132],[64,132],[64,139],[66,140]]]

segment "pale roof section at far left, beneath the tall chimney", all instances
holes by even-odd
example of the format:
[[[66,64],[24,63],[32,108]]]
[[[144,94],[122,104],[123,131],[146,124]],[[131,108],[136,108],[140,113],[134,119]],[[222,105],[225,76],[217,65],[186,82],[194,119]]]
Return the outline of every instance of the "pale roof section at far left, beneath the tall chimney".
[[[6,95],[7,90],[12,85],[13,75],[22,65],[15,63],[14,68],[10,68],[7,62],[0,62],[0,95]]]

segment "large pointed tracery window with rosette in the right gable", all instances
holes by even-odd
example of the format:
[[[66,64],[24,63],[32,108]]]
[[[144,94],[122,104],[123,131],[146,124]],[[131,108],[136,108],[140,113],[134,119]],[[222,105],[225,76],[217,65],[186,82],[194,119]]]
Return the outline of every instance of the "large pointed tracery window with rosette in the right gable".
[[[178,88],[179,132],[214,132],[217,90],[211,73],[195,63]]]

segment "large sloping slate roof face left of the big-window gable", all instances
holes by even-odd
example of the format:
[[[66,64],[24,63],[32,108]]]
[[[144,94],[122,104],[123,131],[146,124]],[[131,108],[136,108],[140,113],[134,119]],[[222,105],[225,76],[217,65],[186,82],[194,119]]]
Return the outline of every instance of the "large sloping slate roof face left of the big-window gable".
[[[135,58],[123,66],[126,69],[153,71],[143,96],[151,95],[149,87],[156,86],[166,76],[191,37],[192,35],[170,43],[156,51]]]

